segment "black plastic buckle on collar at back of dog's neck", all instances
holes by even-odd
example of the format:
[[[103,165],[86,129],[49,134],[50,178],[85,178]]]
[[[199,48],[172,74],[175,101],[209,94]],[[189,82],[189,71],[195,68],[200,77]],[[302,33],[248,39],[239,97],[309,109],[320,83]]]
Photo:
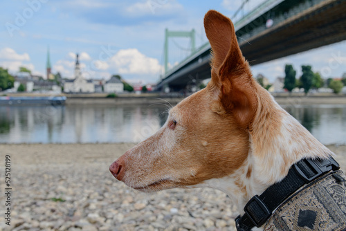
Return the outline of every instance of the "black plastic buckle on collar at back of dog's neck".
[[[305,183],[310,183],[316,178],[322,176],[331,169],[334,171],[340,169],[340,166],[334,160],[329,157],[328,159],[302,159],[298,163],[293,165],[295,172],[302,178]]]

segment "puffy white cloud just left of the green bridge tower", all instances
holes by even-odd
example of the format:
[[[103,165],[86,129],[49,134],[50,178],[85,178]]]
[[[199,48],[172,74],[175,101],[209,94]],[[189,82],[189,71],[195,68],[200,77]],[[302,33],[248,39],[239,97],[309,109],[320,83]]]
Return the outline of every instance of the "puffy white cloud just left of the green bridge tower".
[[[110,60],[120,74],[157,74],[162,70],[158,59],[147,57],[137,49],[119,50]]]

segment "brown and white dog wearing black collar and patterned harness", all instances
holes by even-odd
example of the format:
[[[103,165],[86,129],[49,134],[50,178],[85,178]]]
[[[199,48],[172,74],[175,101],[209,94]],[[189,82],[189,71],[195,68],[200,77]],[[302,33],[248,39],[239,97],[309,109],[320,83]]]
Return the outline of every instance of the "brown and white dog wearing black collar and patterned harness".
[[[111,174],[142,192],[221,190],[240,209],[237,230],[346,228],[345,176],[334,154],[255,81],[228,17],[210,10],[204,28],[210,82],[114,161]]]

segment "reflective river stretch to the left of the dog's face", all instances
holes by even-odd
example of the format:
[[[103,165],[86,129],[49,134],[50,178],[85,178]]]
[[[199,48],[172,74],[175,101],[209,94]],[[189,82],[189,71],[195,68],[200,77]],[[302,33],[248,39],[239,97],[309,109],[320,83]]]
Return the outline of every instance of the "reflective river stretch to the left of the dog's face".
[[[139,142],[165,123],[166,109],[1,107],[0,142]]]

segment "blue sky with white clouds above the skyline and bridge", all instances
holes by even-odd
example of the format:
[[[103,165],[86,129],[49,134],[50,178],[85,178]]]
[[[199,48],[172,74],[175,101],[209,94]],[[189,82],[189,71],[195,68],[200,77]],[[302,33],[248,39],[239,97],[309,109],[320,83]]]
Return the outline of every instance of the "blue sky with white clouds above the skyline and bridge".
[[[263,0],[250,0],[237,16]],[[129,82],[154,83],[163,72],[163,44],[168,30],[196,31],[197,47],[208,41],[203,16],[218,10],[232,17],[242,0],[11,0],[0,8],[0,66],[15,75],[19,66],[46,77],[49,47],[52,72],[73,78],[75,53],[80,54],[82,75],[108,80],[119,74]],[[235,21],[237,18],[235,18]],[[170,39],[170,66],[188,49],[186,38]],[[322,77],[346,73],[346,41],[252,67],[273,82],[284,77],[284,65],[309,64]]]

